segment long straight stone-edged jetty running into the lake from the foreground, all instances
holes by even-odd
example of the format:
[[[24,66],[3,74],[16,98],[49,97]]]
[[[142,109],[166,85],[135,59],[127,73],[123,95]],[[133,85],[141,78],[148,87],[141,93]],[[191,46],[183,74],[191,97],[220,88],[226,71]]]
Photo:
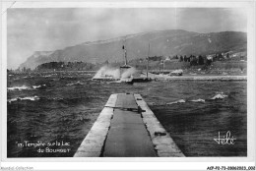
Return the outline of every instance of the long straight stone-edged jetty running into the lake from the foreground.
[[[74,157],[184,157],[140,94],[111,94]]]

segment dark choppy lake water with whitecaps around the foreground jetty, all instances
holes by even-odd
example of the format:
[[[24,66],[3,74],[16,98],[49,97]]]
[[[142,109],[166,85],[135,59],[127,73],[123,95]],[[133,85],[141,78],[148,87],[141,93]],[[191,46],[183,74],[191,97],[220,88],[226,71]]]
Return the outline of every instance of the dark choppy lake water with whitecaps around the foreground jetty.
[[[186,156],[246,156],[246,82],[170,81],[119,85],[89,72],[9,74],[8,157],[70,157],[112,93],[140,93]],[[234,144],[214,141],[229,131]],[[50,142],[38,152],[32,142]],[[57,142],[57,143],[56,143]],[[66,145],[56,145],[68,142]],[[23,146],[21,145],[23,144]]]

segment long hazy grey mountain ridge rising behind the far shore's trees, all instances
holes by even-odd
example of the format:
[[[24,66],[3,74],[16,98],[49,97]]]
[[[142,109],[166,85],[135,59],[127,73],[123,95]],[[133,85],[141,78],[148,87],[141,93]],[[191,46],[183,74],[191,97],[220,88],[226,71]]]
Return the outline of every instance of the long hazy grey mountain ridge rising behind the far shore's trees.
[[[102,63],[123,61],[125,43],[128,60],[150,56],[205,55],[220,52],[242,52],[247,48],[245,32],[224,31],[197,33],[181,29],[132,34],[108,40],[85,42],[52,52],[34,52],[20,68],[32,68],[46,62]],[[124,39],[126,39],[124,41]]]

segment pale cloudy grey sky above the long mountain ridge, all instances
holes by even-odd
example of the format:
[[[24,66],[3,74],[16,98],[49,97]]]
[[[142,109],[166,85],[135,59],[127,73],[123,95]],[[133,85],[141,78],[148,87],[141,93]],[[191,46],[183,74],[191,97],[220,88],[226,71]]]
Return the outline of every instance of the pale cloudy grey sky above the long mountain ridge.
[[[7,67],[34,51],[163,29],[196,32],[247,30],[246,11],[218,8],[44,8],[7,10]]]

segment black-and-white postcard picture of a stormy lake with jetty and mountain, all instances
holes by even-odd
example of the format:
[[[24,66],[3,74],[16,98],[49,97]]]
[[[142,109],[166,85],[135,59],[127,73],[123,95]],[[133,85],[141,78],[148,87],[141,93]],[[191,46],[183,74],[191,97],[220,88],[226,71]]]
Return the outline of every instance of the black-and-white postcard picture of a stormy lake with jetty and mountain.
[[[7,159],[249,156],[244,8],[8,6]]]

